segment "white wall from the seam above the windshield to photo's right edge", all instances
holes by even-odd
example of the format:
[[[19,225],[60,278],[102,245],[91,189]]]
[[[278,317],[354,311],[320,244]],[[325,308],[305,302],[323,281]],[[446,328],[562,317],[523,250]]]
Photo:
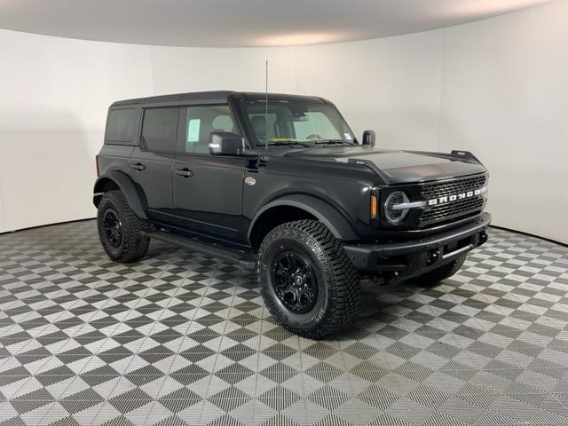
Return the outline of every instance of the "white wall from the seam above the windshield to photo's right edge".
[[[296,88],[377,146],[466,149],[493,224],[568,242],[568,1],[408,36],[296,48]]]

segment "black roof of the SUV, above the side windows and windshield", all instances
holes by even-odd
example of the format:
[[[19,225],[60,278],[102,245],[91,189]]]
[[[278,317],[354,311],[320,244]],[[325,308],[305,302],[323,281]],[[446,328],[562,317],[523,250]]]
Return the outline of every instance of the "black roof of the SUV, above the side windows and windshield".
[[[244,91],[193,91],[190,93],[175,93],[171,95],[151,96],[148,98],[117,100],[112,106],[132,104],[175,104],[209,102],[212,104],[226,103],[229,96],[241,99],[264,100],[266,93]],[[312,102],[330,103],[326,99],[315,96],[288,95],[284,93],[268,93],[268,99],[311,100]]]

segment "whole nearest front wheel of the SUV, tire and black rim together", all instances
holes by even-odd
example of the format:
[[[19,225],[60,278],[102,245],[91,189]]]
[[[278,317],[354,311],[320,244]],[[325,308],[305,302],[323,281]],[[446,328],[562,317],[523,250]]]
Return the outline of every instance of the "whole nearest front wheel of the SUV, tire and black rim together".
[[[275,227],[258,252],[264,303],[283,327],[320,338],[350,323],[359,305],[359,274],[327,227],[299,220]]]

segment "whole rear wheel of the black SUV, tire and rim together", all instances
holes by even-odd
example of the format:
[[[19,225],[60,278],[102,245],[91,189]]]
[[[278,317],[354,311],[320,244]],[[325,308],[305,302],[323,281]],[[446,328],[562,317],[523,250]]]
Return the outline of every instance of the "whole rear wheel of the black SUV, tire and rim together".
[[[150,239],[142,234],[147,222],[137,217],[120,191],[103,195],[97,214],[100,242],[115,262],[134,262],[148,251]]]

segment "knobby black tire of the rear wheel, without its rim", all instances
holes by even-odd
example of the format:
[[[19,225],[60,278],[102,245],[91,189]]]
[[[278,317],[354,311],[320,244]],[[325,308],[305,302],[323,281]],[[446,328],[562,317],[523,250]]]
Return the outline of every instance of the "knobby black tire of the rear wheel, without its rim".
[[[106,237],[103,218],[108,209],[113,209],[117,213],[122,224],[122,242],[118,247],[113,247]],[[146,255],[150,239],[144,236],[142,231],[148,228],[148,223],[134,214],[121,191],[108,191],[103,195],[99,203],[97,227],[99,228],[100,242],[106,254],[114,262],[126,264],[137,261]]]

